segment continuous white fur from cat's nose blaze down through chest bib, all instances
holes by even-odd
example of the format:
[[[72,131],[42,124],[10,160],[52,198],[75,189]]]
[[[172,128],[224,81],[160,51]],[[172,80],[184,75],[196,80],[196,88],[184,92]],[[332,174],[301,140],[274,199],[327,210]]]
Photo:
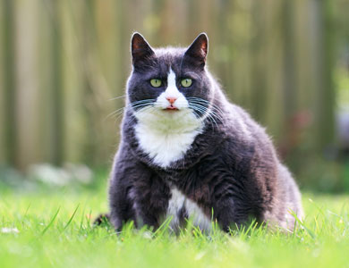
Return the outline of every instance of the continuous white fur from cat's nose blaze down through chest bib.
[[[168,167],[185,155],[192,146],[194,138],[202,130],[202,121],[198,120],[185,96],[175,86],[174,71],[167,78],[167,88],[160,96],[154,108],[137,112],[138,123],[135,126],[140,148],[161,167]],[[166,97],[176,97],[176,111],[165,110],[169,105]]]

